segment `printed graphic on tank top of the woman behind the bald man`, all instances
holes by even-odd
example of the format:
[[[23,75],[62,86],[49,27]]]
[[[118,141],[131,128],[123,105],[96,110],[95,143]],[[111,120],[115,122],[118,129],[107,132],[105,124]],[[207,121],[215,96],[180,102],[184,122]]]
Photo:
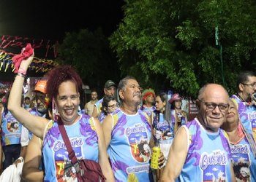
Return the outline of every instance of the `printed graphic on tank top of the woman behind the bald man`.
[[[230,146],[230,148],[236,181],[251,181],[251,174],[249,170],[249,146],[239,144],[235,146]]]

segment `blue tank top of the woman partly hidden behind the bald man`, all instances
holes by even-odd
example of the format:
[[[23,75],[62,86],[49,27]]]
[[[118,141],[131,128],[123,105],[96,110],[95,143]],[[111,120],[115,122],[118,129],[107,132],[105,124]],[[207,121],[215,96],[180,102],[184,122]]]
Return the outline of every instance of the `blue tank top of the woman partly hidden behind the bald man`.
[[[244,137],[239,143],[230,143],[236,181],[256,181],[256,159]]]

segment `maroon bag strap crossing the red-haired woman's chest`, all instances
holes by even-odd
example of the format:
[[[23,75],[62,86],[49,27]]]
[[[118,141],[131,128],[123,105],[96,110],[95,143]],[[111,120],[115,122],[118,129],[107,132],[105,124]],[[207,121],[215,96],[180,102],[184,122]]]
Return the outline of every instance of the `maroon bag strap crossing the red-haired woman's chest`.
[[[75,165],[78,162],[77,157],[75,156],[75,151],[72,149],[71,143],[69,141],[69,137],[67,136],[67,132],[63,125],[63,122],[59,119],[58,121],[59,131],[61,132],[61,136],[63,141],[67,147],[67,152],[69,153],[69,159],[71,160],[72,164]]]

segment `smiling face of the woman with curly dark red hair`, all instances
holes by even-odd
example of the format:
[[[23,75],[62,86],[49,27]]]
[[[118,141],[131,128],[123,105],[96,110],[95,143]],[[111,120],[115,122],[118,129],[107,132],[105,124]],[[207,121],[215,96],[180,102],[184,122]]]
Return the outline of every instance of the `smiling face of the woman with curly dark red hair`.
[[[57,108],[64,124],[72,124],[78,118],[78,106],[80,103],[79,92],[74,82],[63,82],[59,85],[57,95]]]

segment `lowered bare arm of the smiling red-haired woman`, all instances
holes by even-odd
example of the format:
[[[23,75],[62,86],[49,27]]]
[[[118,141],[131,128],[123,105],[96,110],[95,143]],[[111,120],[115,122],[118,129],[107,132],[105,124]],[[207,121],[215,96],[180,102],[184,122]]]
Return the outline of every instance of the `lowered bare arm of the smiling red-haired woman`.
[[[98,135],[98,144],[99,144],[99,165],[102,168],[102,173],[107,178],[106,181],[115,181],[110,163],[108,161],[107,148],[105,143],[105,138],[102,132],[102,126],[99,123],[98,119],[94,119],[95,127]]]

